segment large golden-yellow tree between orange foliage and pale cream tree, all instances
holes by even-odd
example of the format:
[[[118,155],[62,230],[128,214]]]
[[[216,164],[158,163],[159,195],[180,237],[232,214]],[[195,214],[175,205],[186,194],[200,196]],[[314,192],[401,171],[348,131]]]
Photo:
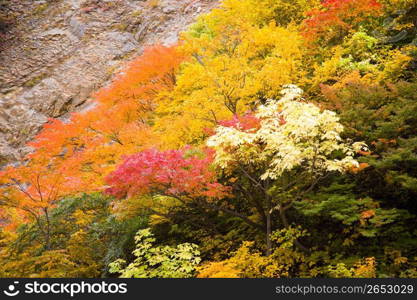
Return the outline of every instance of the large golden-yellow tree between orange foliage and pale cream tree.
[[[201,142],[205,128],[302,78],[301,37],[295,26],[276,25],[272,2],[226,1],[183,36],[181,49],[191,59],[173,91],[159,94],[156,109],[155,130],[165,147]]]

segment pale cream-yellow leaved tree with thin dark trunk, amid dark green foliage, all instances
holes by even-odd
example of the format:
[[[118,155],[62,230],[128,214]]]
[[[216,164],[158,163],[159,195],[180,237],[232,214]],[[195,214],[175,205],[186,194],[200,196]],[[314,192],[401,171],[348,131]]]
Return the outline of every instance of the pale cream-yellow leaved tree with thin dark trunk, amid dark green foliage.
[[[282,94],[257,109],[258,126],[218,126],[207,141],[220,169],[250,181],[248,196],[263,217],[268,251],[273,213],[288,228],[286,211],[294,202],[327,175],[358,167],[355,152],[366,147],[343,141],[336,114],[306,102],[298,87],[286,86]]]

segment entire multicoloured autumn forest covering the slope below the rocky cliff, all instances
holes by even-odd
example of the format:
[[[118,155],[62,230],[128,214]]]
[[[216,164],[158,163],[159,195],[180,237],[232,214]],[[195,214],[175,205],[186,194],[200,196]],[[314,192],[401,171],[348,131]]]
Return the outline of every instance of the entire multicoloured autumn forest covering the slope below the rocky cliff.
[[[0,171],[2,277],[417,277],[417,2],[224,0]]]

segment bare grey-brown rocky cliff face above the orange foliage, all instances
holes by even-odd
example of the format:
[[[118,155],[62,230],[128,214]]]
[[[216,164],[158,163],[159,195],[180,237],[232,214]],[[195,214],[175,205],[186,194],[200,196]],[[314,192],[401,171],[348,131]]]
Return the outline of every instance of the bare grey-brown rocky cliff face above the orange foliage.
[[[82,108],[144,46],[175,43],[219,2],[0,1],[0,165],[27,153],[49,117]]]

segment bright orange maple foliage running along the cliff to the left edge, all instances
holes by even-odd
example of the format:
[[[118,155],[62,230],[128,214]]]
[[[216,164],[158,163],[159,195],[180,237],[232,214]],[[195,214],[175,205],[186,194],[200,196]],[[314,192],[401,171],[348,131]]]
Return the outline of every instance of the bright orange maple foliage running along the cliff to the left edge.
[[[57,201],[102,188],[123,155],[155,146],[149,113],[156,95],[174,87],[183,60],[176,47],[150,47],[94,94],[85,111],[50,119],[29,143],[34,151],[25,164],[0,173],[0,205],[9,208],[3,215],[34,218],[47,245],[48,210]],[[10,208],[19,211],[17,218]]]

